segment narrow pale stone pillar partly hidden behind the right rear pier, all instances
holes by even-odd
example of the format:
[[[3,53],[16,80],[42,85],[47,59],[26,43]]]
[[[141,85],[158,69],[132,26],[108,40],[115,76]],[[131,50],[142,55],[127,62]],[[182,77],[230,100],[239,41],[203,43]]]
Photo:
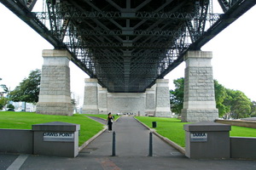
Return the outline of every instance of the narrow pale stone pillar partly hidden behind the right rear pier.
[[[154,116],[155,112],[155,87],[146,89],[146,114]]]

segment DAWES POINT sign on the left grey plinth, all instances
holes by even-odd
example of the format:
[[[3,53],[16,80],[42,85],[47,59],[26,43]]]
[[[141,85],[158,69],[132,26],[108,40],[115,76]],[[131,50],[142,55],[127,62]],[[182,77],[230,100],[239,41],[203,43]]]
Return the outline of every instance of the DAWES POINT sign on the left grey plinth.
[[[53,142],[73,142],[74,133],[57,133],[57,132],[46,132],[43,133],[44,141]]]

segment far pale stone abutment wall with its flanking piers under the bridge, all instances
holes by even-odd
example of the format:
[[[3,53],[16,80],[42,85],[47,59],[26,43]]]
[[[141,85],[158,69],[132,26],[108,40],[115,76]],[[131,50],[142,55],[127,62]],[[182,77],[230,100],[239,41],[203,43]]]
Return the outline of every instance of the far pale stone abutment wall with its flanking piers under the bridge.
[[[160,79],[145,93],[108,93],[94,78],[85,79],[83,113],[131,113],[140,116],[171,116],[168,80]]]

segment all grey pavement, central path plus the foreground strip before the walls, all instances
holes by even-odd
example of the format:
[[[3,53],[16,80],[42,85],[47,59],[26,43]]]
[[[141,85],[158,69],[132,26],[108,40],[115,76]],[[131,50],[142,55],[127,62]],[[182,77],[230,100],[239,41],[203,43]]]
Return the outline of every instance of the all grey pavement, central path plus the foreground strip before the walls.
[[[104,122],[103,122],[104,123]],[[113,133],[105,131],[94,139],[75,158],[55,156],[23,156],[0,153],[0,170],[15,169],[15,160],[21,170],[68,170],[68,169],[256,169],[256,160],[195,160],[189,159],[169,144],[154,136],[153,156],[148,156],[149,130],[133,117],[122,116],[113,123],[116,134],[116,156],[112,155]],[[21,155],[22,156],[22,155]],[[22,157],[21,157],[22,158]]]

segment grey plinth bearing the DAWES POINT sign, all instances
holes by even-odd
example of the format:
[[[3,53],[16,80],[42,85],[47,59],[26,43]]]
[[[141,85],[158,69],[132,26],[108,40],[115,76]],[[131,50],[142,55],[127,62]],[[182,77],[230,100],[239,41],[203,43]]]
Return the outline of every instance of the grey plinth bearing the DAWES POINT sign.
[[[80,125],[47,122],[32,125],[34,155],[76,157],[79,155]]]

